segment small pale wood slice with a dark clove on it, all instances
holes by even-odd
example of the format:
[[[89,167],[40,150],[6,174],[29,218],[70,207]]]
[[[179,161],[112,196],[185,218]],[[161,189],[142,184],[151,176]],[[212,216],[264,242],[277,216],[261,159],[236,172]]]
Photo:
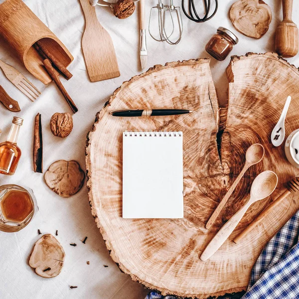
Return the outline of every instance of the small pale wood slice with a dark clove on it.
[[[29,259],[29,266],[35,273],[44,278],[56,277],[62,270],[65,253],[51,235],[43,235],[36,243]]]

